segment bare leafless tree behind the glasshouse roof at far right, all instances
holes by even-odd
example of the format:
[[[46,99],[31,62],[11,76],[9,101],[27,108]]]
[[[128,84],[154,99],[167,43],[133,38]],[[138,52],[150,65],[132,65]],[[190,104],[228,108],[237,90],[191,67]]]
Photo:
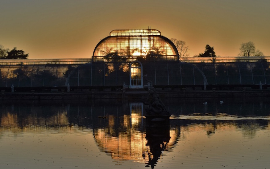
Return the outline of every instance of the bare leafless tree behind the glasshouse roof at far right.
[[[255,44],[252,41],[242,43],[239,50],[240,53],[238,54],[238,56],[264,56],[264,53],[262,53],[258,49],[256,50]]]

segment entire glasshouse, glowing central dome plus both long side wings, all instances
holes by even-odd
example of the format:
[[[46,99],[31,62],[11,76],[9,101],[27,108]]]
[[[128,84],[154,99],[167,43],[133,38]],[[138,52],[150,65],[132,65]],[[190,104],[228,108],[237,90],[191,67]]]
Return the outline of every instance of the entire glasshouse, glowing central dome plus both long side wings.
[[[270,84],[267,58],[179,60],[175,45],[155,29],[113,30],[92,59],[0,61],[0,87]],[[200,61],[198,61],[200,60]],[[187,61],[187,60],[185,60]],[[228,62],[226,62],[228,61]],[[245,61],[245,62],[244,62]]]

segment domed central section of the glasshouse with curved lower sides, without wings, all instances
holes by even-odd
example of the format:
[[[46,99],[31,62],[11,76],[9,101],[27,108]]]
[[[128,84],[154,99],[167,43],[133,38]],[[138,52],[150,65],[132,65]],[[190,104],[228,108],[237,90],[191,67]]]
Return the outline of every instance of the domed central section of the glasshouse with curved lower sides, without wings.
[[[179,61],[175,45],[158,30],[131,29],[111,31],[94,49],[92,62],[73,70],[67,83],[142,88],[146,79],[153,85],[199,85],[207,81],[196,66]]]

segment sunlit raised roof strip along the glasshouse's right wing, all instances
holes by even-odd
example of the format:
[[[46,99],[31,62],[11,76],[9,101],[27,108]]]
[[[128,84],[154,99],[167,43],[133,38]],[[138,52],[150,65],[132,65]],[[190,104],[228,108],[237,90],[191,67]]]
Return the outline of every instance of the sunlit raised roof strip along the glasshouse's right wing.
[[[270,62],[270,56],[262,57],[180,57],[180,61],[187,63],[229,63],[229,62]]]

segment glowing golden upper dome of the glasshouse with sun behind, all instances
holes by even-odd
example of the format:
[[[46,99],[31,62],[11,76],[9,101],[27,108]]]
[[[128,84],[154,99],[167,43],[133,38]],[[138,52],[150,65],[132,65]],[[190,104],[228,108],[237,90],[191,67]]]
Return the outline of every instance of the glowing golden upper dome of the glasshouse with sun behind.
[[[93,61],[175,60],[177,48],[156,29],[113,30],[93,52]]]

